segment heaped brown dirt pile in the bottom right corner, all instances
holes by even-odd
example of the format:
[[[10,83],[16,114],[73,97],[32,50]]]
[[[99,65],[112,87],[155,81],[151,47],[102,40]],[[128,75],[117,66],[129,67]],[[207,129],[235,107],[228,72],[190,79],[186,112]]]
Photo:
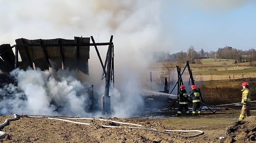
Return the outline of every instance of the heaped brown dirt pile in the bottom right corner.
[[[256,141],[256,116],[249,116],[244,120],[238,120],[227,128],[224,142],[252,142]],[[231,138],[232,139],[231,139]]]

